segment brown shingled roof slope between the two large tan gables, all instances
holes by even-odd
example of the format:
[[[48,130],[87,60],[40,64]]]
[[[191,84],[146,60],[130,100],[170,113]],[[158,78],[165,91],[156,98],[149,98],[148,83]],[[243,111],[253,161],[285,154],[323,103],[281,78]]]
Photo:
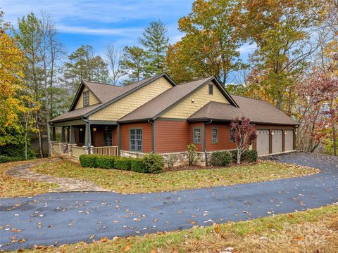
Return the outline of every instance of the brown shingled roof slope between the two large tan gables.
[[[232,103],[232,106],[238,106],[237,103],[235,103],[231,98],[230,94],[227,93],[224,87],[217,81],[217,79],[215,79],[215,77],[207,77],[193,82],[180,84],[168,89],[167,91],[156,96],[156,98],[153,98],[149,102],[125,115],[125,117],[119,119],[118,122],[133,122],[147,119],[154,120],[159,115],[163,114],[163,112],[173,108],[174,105],[177,105],[177,103],[180,103],[180,101],[182,101],[184,98],[191,95],[192,92],[201,88],[204,86],[204,84],[208,84],[210,82],[214,82],[214,84],[218,86],[227,100]]]

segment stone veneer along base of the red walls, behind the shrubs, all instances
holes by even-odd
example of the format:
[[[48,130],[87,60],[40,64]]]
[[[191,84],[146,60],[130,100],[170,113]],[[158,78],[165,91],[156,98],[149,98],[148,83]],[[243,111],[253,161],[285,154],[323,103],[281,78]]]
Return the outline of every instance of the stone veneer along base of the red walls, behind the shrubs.
[[[231,150],[220,150],[220,151],[231,151]],[[197,162],[196,165],[198,166],[206,166],[206,159],[210,160],[212,152],[196,152],[197,154]],[[132,151],[126,151],[126,150],[120,150],[120,156],[121,157],[144,157],[146,153],[139,153],[139,152],[132,152]],[[175,155],[176,157],[176,162],[174,164],[174,167],[179,167],[179,166],[187,166],[188,165],[188,153],[187,152],[177,152],[177,153],[160,153],[158,155],[162,155],[165,164],[167,164],[168,158],[170,155]],[[165,165],[167,166],[167,165]]]

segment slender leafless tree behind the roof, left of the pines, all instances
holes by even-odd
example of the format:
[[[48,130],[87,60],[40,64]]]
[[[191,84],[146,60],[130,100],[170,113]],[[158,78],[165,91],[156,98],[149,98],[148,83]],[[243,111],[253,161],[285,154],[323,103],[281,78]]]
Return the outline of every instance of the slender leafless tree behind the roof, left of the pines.
[[[106,51],[106,58],[108,61],[108,67],[110,70],[109,77],[114,85],[118,84],[118,79],[123,76],[121,62],[121,51],[115,49],[114,45],[108,45]]]

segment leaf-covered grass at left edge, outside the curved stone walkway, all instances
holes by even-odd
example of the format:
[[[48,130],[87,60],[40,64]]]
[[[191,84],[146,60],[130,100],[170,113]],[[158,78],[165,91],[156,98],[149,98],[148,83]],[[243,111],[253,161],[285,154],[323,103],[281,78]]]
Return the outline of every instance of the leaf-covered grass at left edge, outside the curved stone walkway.
[[[37,160],[0,164],[0,197],[31,196],[48,193],[49,191],[58,188],[56,183],[40,183],[37,181],[16,179],[6,174],[6,171],[11,167],[35,161]],[[41,161],[41,159],[38,161]]]

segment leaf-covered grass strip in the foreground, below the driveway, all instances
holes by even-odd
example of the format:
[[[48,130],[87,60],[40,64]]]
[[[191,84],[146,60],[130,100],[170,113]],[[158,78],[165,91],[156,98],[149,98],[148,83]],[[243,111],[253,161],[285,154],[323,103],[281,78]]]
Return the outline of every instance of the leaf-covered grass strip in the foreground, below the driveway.
[[[338,252],[338,206],[25,252]]]

